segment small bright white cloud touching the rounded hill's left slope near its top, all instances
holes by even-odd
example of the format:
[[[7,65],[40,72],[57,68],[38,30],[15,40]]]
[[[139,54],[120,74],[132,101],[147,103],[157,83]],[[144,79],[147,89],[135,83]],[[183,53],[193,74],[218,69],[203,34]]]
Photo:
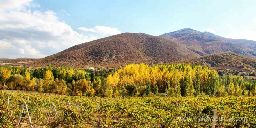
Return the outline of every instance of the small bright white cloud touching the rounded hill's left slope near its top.
[[[85,32],[99,33],[102,35],[116,35],[121,33],[121,31],[119,31],[117,28],[110,28],[105,26],[95,26],[94,28],[80,27],[77,29],[83,30]]]

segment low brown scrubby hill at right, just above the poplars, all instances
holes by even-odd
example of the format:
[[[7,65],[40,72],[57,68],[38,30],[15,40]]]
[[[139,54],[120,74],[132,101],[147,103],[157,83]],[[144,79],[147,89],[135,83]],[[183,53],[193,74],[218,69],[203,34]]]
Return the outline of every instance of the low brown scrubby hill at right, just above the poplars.
[[[215,70],[243,70],[243,72],[255,72],[256,59],[249,58],[233,52],[223,52],[203,56],[200,58],[187,59],[176,61],[173,63],[187,63],[205,65],[214,68]]]

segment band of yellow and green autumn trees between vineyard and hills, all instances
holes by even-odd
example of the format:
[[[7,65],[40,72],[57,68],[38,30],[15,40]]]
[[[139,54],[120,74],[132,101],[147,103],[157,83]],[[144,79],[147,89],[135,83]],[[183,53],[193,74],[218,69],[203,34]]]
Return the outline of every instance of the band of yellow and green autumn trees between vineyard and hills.
[[[90,73],[89,73],[90,72]],[[95,72],[72,67],[0,67],[1,88],[74,96],[255,95],[255,81],[218,75],[208,67],[188,64],[149,66],[130,64],[123,69]]]

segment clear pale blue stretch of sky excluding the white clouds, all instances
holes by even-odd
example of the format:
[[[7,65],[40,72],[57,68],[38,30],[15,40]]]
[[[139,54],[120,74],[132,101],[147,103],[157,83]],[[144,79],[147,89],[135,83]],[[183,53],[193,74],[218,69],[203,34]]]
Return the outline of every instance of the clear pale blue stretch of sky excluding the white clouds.
[[[186,0],[186,1],[40,1],[42,9],[66,10],[70,16],[58,15],[73,29],[79,26],[116,27],[122,32],[161,35],[183,28],[215,30],[229,36],[229,25],[237,30],[250,29],[256,17],[254,0]]]

